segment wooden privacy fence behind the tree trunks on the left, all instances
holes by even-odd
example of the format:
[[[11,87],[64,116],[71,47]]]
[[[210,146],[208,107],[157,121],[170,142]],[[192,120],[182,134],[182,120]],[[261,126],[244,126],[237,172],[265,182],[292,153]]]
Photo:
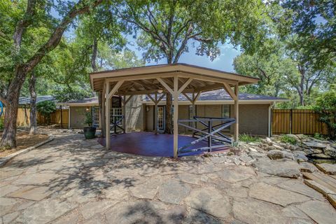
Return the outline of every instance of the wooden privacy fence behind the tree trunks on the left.
[[[62,114],[62,116],[61,116]],[[62,120],[62,123],[61,123]],[[37,124],[46,125],[47,119],[41,114],[37,113]],[[50,115],[50,125],[56,125],[57,127],[68,127],[69,124],[69,110],[57,109]],[[18,127],[27,127],[30,125],[30,109],[19,108],[18,109]]]

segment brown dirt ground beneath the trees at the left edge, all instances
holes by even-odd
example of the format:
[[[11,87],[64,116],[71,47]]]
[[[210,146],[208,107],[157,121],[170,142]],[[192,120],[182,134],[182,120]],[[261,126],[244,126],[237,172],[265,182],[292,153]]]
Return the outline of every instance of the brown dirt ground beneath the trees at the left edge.
[[[2,132],[0,132],[0,136]],[[15,153],[16,151],[20,151],[22,149],[28,148],[30,146],[34,146],[41,141],[45,141],[48,139],[48,135],[46,134],[36,134],[36,135],[29,135],[29,132],[18,132],[17,133],[17,147],[12,148],[10,150],[1,151],[0,150],[0,158],[5,157],[11,153]]]

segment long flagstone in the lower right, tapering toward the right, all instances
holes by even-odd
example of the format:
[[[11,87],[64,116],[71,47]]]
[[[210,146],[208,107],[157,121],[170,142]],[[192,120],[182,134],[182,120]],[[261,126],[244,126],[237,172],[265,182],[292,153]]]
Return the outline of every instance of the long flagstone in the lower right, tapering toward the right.
[[[288,204],[306,202],[309,197],[294,193],[289,190],[282,190],[267,183],[255,183],[250,188],[250,197],[273,204],[286,207]]]

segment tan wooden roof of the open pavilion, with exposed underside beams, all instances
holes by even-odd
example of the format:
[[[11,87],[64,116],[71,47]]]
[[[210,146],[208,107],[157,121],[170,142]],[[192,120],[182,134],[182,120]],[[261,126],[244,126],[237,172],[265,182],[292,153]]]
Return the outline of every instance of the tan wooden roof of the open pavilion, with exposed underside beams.
[[[217,90],[223,87],[223,83],[230,86],[246,85],[257,83],[259,80],[237,73],[179,63],[94,72],[90,73],[90,83],[94,91],[103,92],[104,83],[109,83],[110,89],[112,89],[113,82],[120,81],[122,83],[117,88],[118,94],[148,94],[162,88],[165,91],[169,90],[165,85],[162,85],[162,82],[172,88],[171,79],[174,77],[179,78],[183,92]],[[188,79],[191,81],[188,82]]]

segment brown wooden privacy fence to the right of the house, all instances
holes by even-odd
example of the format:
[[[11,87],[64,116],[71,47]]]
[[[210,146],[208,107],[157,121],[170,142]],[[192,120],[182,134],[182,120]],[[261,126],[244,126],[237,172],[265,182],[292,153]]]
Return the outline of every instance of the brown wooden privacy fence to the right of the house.
[[[272,109],[272,134],[328,134],[319,114],[307,109]]]

